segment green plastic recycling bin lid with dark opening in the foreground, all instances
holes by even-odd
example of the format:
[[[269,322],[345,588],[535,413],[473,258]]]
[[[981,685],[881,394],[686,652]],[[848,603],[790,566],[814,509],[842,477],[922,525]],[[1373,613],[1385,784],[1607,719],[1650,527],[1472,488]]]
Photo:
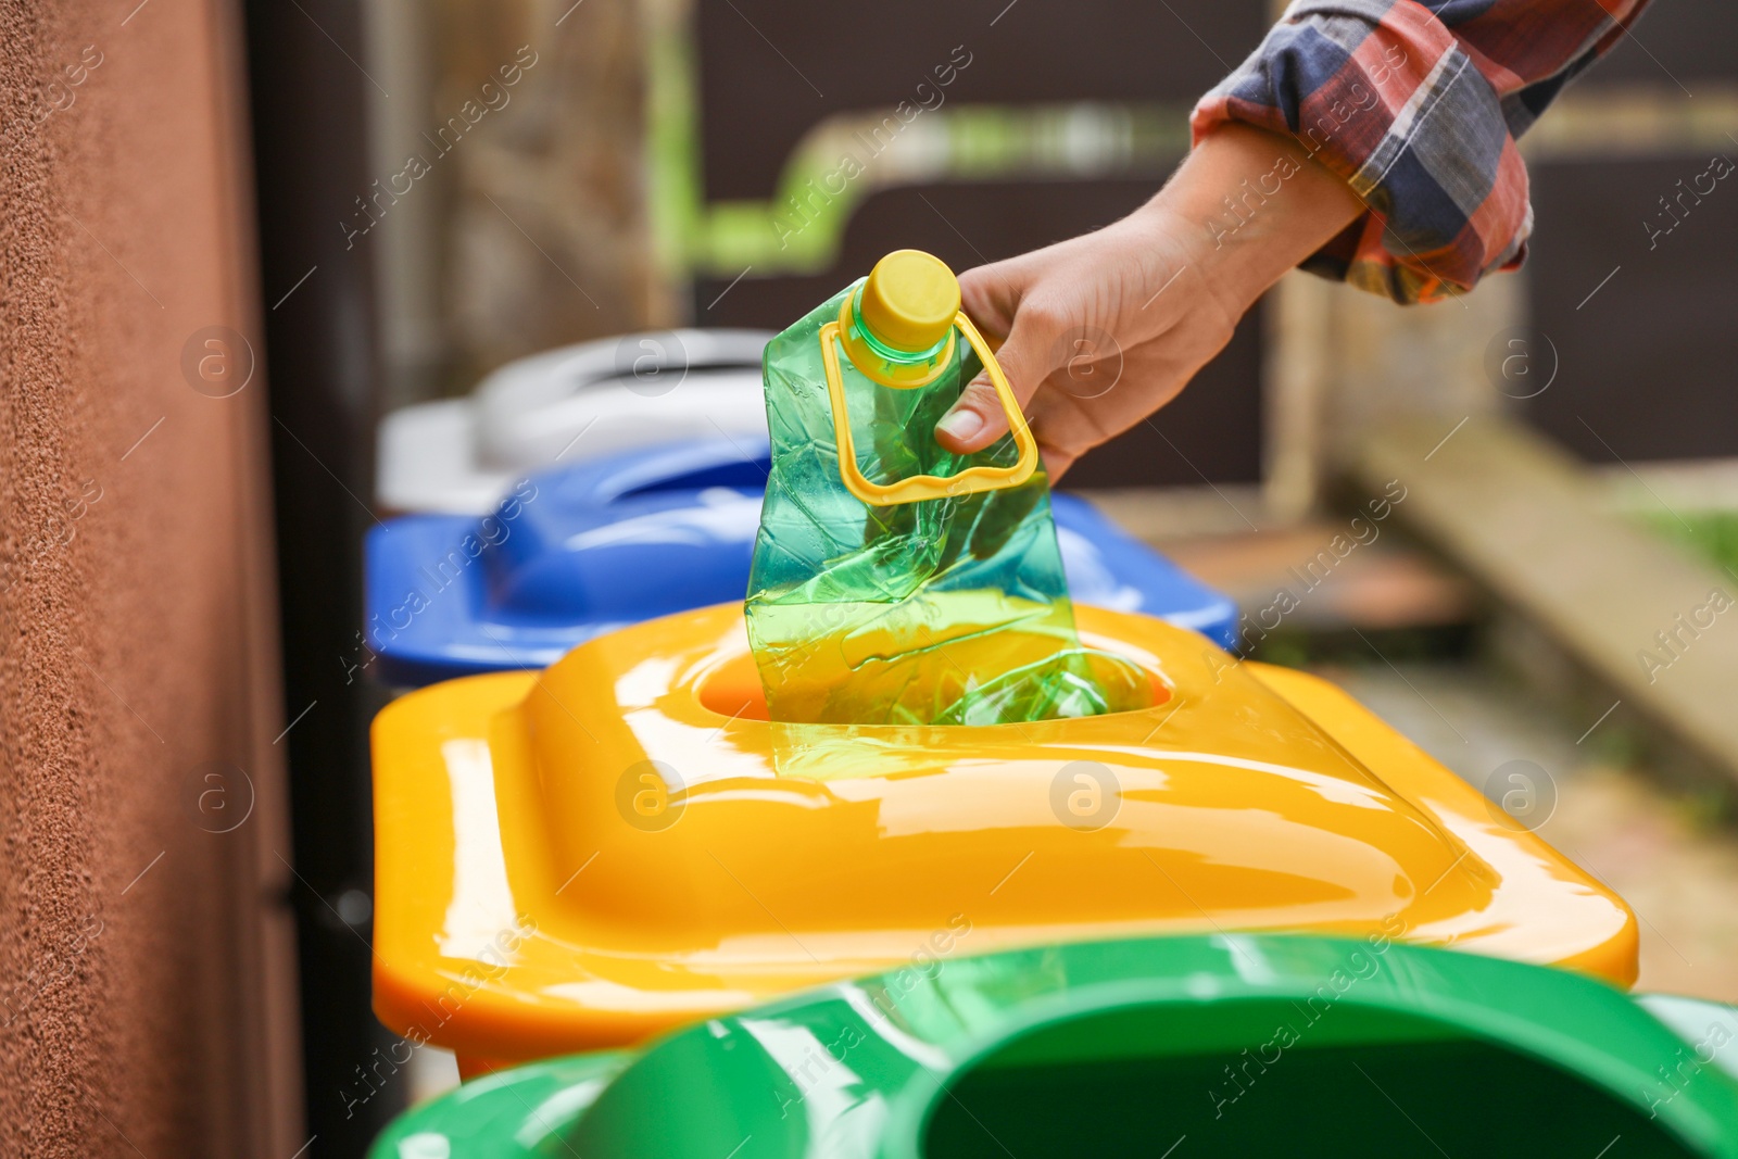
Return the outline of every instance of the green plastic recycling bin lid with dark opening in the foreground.
[[[1738,1159],[1731,1008],[1392,937],[925,952],[492,1074],[372,1159]]]

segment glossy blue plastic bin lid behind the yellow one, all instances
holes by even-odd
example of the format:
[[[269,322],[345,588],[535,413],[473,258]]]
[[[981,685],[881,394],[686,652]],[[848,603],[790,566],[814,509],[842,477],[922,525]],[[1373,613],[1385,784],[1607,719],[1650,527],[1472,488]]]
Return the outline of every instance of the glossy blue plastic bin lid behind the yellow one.
[[[487,516],[417,514],[367,540],[375,674],[421,686],[546,667],[607,631],[747,593],[765,440],[676,443],[520,481]],[[1158,615],[1231,646],[1236,605],[1091,504],[1053,497],[1076,603]]]

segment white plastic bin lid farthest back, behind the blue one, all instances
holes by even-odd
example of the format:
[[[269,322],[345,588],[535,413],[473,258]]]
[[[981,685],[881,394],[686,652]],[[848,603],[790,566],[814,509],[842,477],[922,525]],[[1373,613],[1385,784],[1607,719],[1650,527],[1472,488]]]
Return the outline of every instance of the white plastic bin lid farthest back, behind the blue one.
[[[389,511],[483,514],[514,480],[657,443],[766,436],[766,330],[655,330],[520,358],[377,434]]]

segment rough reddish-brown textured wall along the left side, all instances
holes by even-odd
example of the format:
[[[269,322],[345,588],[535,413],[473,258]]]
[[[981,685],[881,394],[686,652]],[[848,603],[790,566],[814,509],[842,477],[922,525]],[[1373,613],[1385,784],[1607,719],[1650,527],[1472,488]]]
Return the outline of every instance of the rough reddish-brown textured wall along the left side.
[[[0,1156],[289,1159],[238,10],[136,2],[0,0]]]

